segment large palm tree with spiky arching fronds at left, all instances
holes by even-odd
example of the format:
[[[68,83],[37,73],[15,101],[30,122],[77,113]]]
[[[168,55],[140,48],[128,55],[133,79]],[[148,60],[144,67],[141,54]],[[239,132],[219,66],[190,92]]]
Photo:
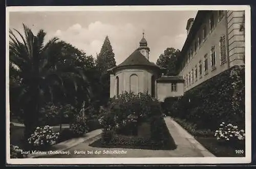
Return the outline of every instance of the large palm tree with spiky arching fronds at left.
[[[69,44],[56,37],[44,43],[44,30],[34,35],[26,25],[23,28],[24,35],[10,30],[10,76],[15,73],[20,79],[18,85],[10,86],[10,92],[15,93],[11,97],[24,110],[25,138],[28,138],[39,124],[39,108],[46,100],[70,99],[71,95],[67,96],[70,91],[85,91],[84,98],[90,98],[90,84],[81,67],[74,64],[77,55]]]

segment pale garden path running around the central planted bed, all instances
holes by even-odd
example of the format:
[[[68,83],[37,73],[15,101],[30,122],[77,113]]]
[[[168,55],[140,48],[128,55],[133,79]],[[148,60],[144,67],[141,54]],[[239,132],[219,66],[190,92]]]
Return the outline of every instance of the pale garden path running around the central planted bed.
[[[141,150],[141,149],[124,149],[124,148],[95,148],[90,147],[89,144],[99,139],[85,140],[82,143],[78,143],[76,146],[72,145],[71,148],[67,148],[70,151],[70,155],[52,155],[51,158],[88,158],[88,157],[215,157],[208,152],[202,145],[200,145],[196,139],[191,136],[185,129],[183,129],[172,118],[164,118],[166,126],[173,136],[177,145],[175,150]],[[70,142],[70,141],[69,141]],[[66,147],[68,147],[66,145]],[[103,151],[107,150],[119,150],[127,151],[126,154],[103,154]],[[74,154],[74,151],[101,151],[101,154]],[[38,158],[38,157],[37,157]],[[47,157],[44,157],[47,158]]]

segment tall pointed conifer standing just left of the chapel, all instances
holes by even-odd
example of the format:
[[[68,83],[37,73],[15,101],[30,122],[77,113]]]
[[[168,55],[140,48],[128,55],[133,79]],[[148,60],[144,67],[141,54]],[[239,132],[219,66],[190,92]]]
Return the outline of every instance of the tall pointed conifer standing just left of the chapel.
[[[100,72],[102,87],[98,98],[102,104],[106,104],[110,97],[110,74],[107,70],[116,66],[115,54],[108,36],[105,37],[100,53],[97,55],[96,66]]]

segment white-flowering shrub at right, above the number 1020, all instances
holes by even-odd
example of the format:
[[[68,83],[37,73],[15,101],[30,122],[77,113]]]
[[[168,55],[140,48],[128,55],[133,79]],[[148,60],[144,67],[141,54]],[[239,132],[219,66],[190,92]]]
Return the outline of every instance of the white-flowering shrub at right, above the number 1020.
[[[222,139],[226,141],[230,140],[244,140],[245,139],[245,131],[243,129],[239,129],[238,126],[234,126],[232,124],[225,125],[224,122],[220,124],[219,130],[215,131],[215,137],[217,139]]]

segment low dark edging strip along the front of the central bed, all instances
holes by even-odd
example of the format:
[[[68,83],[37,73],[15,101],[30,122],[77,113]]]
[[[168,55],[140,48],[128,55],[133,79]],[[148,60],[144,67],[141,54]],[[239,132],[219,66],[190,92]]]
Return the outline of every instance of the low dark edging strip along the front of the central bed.
[[[117,140],[125,140],[123,143],[118,142]],[[91,147],[98,147],[98,148],[126,148],[126,149],[144,149],[144,150],[175,150],[176,145],[174,140],[169,139],[167,144],[161,145],[152,142],[151,139],[144,139],[143,144],[129,144],[131,142],[135,143],[137,139],[143,139],[136,136],[125,136],[125,135],[118,135],[115,139],[109,144],[103,144],[102,139],[98,139],[95,142],[91,143],[89,146]]]

